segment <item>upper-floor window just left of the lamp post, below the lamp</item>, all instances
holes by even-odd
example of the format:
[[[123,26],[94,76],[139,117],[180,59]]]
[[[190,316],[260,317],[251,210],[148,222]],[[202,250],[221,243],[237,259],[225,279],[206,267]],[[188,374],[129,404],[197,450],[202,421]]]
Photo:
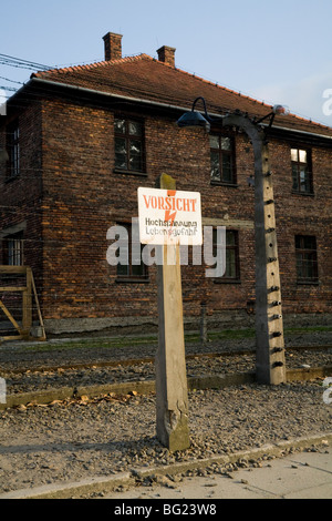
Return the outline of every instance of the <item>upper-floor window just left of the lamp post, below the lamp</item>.
[[[235,184],[234,140],[222,134],[210,135],[211,182]]]

